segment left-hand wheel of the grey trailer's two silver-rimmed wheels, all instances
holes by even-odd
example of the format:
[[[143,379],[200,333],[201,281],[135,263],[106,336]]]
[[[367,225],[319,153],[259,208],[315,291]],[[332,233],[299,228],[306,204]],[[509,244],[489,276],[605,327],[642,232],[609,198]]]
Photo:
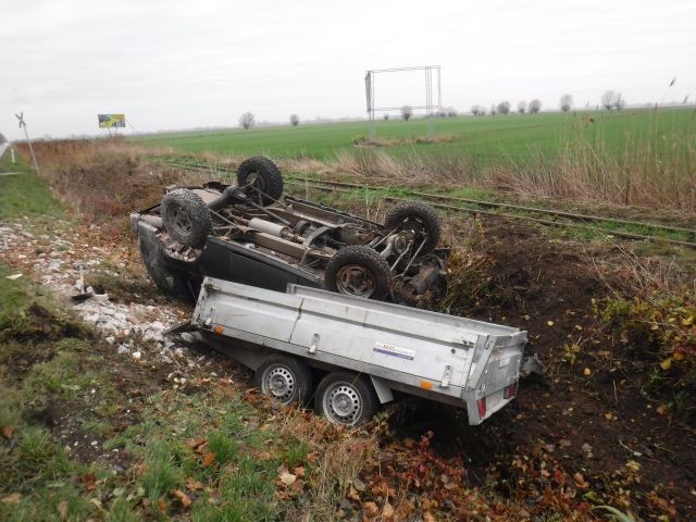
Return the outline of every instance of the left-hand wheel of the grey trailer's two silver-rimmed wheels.
[[[284,405],[303,403],[312,393],[312,374],[295,358],[271,356],[254,373],[253,385]]]

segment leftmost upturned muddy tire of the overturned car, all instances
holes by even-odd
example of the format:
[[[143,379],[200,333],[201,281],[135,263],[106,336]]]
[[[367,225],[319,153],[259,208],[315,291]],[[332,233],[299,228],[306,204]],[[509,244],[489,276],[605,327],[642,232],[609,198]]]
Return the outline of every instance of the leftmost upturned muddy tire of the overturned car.
[[[186,247],[201,248],[212,231],[210,209],[197,194],[177,188],[162,198],[164,228],[172,239]]]

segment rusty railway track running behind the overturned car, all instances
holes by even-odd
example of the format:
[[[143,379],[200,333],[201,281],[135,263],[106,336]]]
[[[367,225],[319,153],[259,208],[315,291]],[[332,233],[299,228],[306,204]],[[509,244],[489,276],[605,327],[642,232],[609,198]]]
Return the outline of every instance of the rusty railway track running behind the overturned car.
[[[189,172],[235,174],[234,169],[224,166],[209,166],[201,164],[192,164],[186,162],[166,162],[171,166],[183,169]],[[608,217],[601,215],[581,214],[562,210],[544,209],[539,207],[521,206],[514,203],[504,203],[496,201],[486,201],[472,198],[457,198],[449,196],[440,196],[437,194],[423,192],[420,190],[410,190],[399,188],[399,194],[408,197],[389,196],[389,191],[394,191],[394,187],[360,185],[347,182],[331,182],[308,179],[297,176],[285,176],[287,185],[325,192],[344,192],[356,194],[357,191],[382,192],[387,201],[407,201],[419,199],[427,201],[428,204],[436,209],[450,212],[468,213],[473,215],[494,215],[507,217],[511,220],[526,221],[546,226],[555,227],[576,227],[594,232],[601,232],[614,237],[634,240],[656,240],[680,245],[689,248],[696,248],[696,229],[680,226],[666,225],[663,223],[623,220],[617,217]],[[606,225],[635,227],[652,233],[629,232],[625,229],[608,228]],[[679,236],[679,237],[669,237]]]

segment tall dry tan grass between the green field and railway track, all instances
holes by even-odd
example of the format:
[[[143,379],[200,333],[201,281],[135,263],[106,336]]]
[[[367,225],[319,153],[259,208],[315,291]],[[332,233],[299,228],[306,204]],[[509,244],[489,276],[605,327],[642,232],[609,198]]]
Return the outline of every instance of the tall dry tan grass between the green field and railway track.
[[[467,154],[424,158],[413,148],[393,156],[384,150],[338,153],[335,174],[438,186],[494,187],[524,195],[587,202],[696,210],[696,130],[648,128],[626,135],[620,153],[602,137],[585,137],[582,123],[561,138],[561,151],[548,157],[530,150],[505,161]]]

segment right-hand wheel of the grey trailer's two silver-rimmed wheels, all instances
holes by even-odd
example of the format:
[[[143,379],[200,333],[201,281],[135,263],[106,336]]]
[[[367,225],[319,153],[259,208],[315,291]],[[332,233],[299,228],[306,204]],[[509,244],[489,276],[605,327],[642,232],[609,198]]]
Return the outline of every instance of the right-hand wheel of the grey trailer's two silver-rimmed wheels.
[[[319,383],[314,408],[333,423],[356,426],[374,417],[377,399],[372,386],[360,375],[333,372]]]

